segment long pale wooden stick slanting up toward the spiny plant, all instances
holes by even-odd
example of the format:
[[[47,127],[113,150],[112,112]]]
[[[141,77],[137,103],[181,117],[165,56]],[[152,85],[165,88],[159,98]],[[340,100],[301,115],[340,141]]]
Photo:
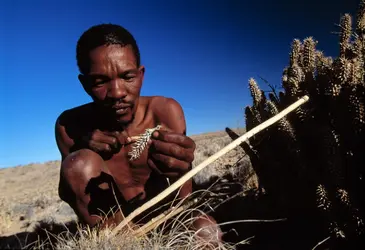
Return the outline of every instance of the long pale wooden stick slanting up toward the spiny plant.
[[[149,209],[150,207],[156,205],[158,202],[166,198],[168,195],[170,195],[172,192],[177,190],[180,186],[182,186],[185,182],[187,182],[190,178],[194,177],[199,171],[204,169],[206,166],[211,164],[212,162],[216,161],[223,155],[227,154],[232,149],[238,147],[241,143],[246,141],[247,139],[251,138],[258,132],[266,129],[267,127],[271,126],[272,124],[279,121],[281,118],[298,108],[299,106],[303,105],[309,100],[309,97],[303,96],[299,100],[297,100],[295,103],[291,104],[289,107],[278,113],[277,115],[271,117],[270,119],[266,120],[265,122],[261,123],[260,125],[254,127],[250,131],[246,132],[236,140],[232,141],[230,144],[219,150],[214,155],[210,156],[209,158],[205,159],[202,163],[200,163],[198,166],[194,167],[192,170],[187,172],[185,175],[180,177],[177,181],[175,181],[171,186],[166,188],[164,191],[162,191],[160,194],[140,206],[139,208],[135,209],[133,212],[131,212],[121,223],[119,223],[118,226],[116,226],[112,232],[111,236],[116,235],[124,226],[126,226],[130,221],[132,221],[136,216],[143,213],[145,210]]]

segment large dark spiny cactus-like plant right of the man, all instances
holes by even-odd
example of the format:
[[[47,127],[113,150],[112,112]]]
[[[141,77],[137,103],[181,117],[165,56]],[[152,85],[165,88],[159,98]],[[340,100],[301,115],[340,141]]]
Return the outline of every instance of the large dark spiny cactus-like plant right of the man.
[[[245,109],[247,130],[309,96],[308,103],[251,138],[255,152],[247,153],[260,185],[288,216],[319,212],[315,221],[327,225],[331,239],[364,234],[364,20],[361,0],[354,31],[352,17],[341,18],[337,58],[317,51],[313,37],[294,39],[279,98],[276,93],[266,98],[249,80],[253,105]]]

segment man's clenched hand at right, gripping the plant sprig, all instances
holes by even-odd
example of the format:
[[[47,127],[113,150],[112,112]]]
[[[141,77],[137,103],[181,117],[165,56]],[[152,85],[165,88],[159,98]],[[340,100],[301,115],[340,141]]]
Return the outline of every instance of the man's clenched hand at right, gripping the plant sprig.
[[[191,169],[195,142],[182,134],[155,131],[149,147],[149,166],[168,178],[177,178]]]

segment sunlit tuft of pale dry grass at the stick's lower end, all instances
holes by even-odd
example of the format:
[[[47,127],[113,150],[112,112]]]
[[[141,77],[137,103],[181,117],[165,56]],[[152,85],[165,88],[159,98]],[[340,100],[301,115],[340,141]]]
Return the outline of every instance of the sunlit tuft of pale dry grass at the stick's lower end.
[[[164,223],[148,234],[134,236],[133,231],[121,231],[116,237],[110,237],[111,230],[79,228],[77,237],[57,237],[55,249],[235,249],[235,245],[220,243],[214,245],[197,237],[196,232],[191,230],[197,209],[189,209],[180,213],[168,223]],[[201,215],[204,213],[201,212]],[[172,230],[164,230],[171,227]],[[212,235],[213,238],[214,235]],[[242,241],[240,244],[246,244]]]

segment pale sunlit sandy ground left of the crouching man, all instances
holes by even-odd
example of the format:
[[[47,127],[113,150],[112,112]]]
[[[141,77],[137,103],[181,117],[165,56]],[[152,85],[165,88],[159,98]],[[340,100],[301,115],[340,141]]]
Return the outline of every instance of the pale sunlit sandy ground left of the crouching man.
[[[58,197],[59,161],[0,170],[0,236],[32,231],[38,221],[75,220],[72,209]]]

